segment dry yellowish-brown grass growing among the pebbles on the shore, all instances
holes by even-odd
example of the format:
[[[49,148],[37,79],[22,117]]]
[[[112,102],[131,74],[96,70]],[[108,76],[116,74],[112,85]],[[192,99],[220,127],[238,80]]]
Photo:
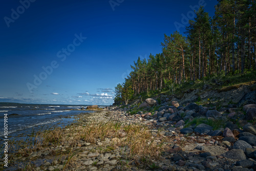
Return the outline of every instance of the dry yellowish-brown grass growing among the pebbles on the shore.
[[[157,144],[147,127],[107,122],[91,123],[86,126],[68,126],[65,129],[54,128],[32,134],[24,142],[24,148],[18,149],[15,155],[28,157],[32,152],[40,151],[49,146],[65,145],[73,147],[77,146],[80,141],[96,143],[97,140],[101,139],[103,141],[105,138],[115,138],[117,140],[111,141],[111,144],[105,146],[105,151],[113,150],[117,146],[126,146],[126,159],[130,161],[139,162],[145,159],[158,159],[163,151],[163,147]],[[60,151],[52,153],[59,158],[68,155],[63,170],[72,168],[75,152],[68,148],[66,153]],[[30,170],[28,166],[27,169]]]

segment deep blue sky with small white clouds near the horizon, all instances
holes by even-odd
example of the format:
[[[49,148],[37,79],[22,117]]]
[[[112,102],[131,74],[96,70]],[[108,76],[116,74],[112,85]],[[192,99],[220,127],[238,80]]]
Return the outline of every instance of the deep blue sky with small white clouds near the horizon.
[[[0,102],[114,102],[131,65],[161,53],[217,0],[8,0],[0,7]]]

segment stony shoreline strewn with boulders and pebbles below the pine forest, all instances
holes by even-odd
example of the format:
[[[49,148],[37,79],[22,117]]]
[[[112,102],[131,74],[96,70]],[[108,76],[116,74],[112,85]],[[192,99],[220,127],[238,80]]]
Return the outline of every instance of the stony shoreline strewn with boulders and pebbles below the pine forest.
[[[35,146],[33,151],[24,145],[23,150],[10,154],[7,170],[255,170],[256,129],[248,120],[255,120],[256,104],[217,110],[195,103],[186,106],[179,106],[177,101],[169,103],[159,105],[154,113],[141,109],[130,115],[129,108],[113,106],[77,115],[76,122],[54,130],[52,136],[59,137],[59,141],[52,140],[40,148]],[[184,128],[193,118],[205,121]],[[225,124],[214,129],[207,119],[223,120]],[[90,139],[89,132],[84,131],[90,125],[108,123],[113,123],[110,126],[113,134]],[[145,130],[140,136],[150,135],[146,143],[129,139],[132,126]],[[96,133],[102,127],[92,127],[90,131]],[[138,155],[131,155],[135,148]],[[147,153],[143,158],[139,155],[141,151],[152,154]]]

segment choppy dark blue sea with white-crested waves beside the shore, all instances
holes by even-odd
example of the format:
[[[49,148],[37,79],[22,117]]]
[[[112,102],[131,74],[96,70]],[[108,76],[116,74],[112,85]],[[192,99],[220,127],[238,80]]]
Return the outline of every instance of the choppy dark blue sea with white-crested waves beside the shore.
[[[0,141],[22,140],[37,131],[65,127],[75,121],[76,115],[93,112],[79,111],[81,108],[86,109],[87,105],[0,103]],[[8,129],[7,138],[5,128]]]

